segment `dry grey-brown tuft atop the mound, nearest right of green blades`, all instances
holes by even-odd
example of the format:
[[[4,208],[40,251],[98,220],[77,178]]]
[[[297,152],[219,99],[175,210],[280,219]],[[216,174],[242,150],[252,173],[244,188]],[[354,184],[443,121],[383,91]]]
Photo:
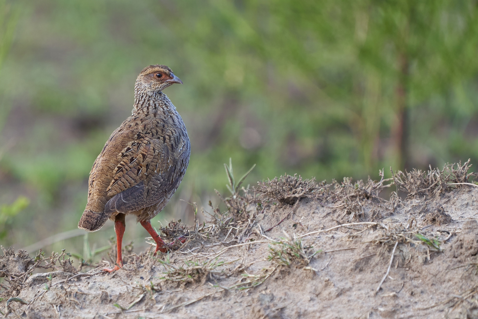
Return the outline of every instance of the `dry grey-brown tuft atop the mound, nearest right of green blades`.
[[[295,204],[300,198],[313,197],[314,192],[320,188],[315,183],[315,178],[302,179],[297,174],[294,176],[283,175],[272,180],[267,179],[258,184],[259,187],[254,188],[254,191],[260,193],[261,197],[272,198],[289,205]]]

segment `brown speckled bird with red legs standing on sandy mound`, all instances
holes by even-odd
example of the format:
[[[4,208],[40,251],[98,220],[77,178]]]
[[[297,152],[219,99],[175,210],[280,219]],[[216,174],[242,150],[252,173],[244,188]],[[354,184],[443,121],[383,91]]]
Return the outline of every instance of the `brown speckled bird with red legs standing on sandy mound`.
[[[174,243],[166,244],[150,221],[173,196],[189,164],[185,124],[163,93],[174,83],[183,84],[168,66],[156,64],[141,71],[131,116],[111,134],[91,168],[88,201],[78,228],[98,231],[108,219],[114,221],[117,260],[112,269],[103,269],[110,273],[123,266],[126,214],[135,215],[152,236],[154,254],[165,253]]]

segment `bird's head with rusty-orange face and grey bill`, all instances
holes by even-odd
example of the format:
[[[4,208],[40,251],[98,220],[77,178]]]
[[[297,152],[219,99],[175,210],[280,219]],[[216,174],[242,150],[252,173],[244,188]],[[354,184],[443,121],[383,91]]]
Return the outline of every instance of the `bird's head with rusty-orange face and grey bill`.
[[[169,67],[155,64],[153,66],[146,66],[141,71],[136,79],[135,89],[152,94],[153,92],[162,91],[173,83],[183,84]]]

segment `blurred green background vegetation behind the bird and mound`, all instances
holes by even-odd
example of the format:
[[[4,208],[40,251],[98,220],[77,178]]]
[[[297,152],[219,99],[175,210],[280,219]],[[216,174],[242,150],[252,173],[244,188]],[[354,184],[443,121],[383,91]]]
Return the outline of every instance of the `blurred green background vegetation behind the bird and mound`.
[[[179,199],[217,205],[229,157],[239,175],[257,164],[246,184],[477,165],[477,49],[471,0],[0,0],[0,242],[81,234],[88,173],[144,66],[183,80],[165,93],[192,145],[158,226],[191,220]],[[131,220],[124,242],[146,235]]]

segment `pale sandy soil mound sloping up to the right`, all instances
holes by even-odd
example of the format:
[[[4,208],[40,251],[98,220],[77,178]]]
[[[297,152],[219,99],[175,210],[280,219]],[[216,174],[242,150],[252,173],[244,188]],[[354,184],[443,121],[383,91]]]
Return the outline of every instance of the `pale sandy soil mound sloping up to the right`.
[[[19,297],[8,318],[478,318],[478,190],[418,195],[249,201],[247,221],[191,226],[180,249],[112,274],[29,275],[34,261],[5,250],[0,274],[21,285],[3,281],[0,309]]]

